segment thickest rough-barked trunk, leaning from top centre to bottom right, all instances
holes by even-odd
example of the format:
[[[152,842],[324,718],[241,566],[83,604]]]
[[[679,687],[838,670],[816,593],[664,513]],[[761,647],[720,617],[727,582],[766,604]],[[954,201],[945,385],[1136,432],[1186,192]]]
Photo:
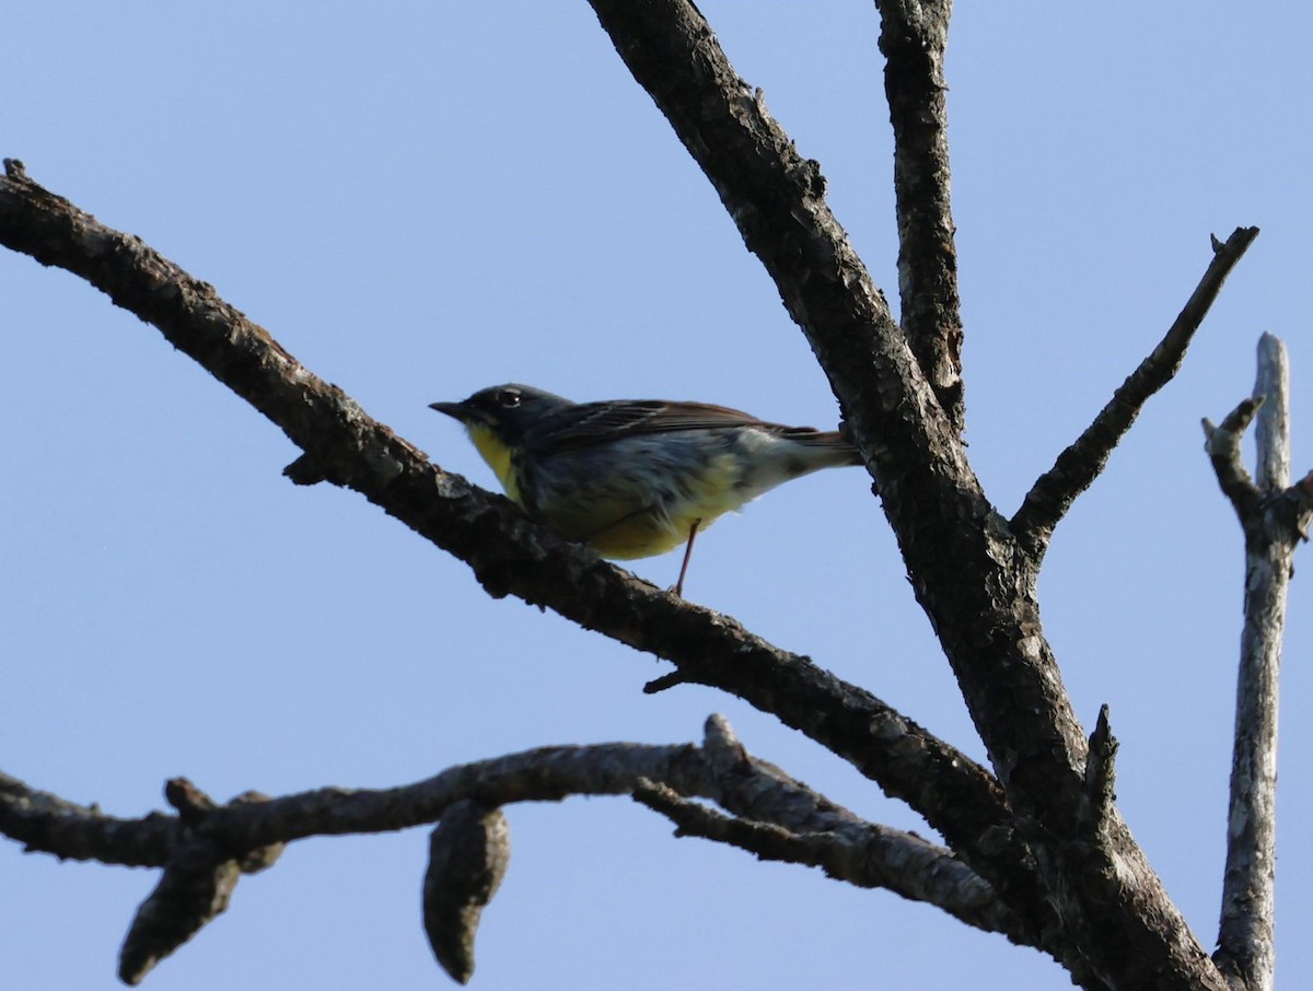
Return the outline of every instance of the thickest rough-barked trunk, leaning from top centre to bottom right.
[[[692,4],[591,1],[762,259],[843,404],[913,588],[1058,903],[1070,940],[1064,963],[1087,983],[1221,987],[1120,818],[1099,843],[1079,832],[1086,739],[1040,626],[1036,557],[985,497],[826,207],[817,167],[765,114]]]

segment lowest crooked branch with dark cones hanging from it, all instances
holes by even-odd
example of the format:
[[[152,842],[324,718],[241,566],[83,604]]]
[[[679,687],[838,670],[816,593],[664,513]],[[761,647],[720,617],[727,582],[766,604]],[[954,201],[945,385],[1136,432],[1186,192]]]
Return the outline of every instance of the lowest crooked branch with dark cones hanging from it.
[[[12,778],[8,782],[9,802],[49,798]],[[574,794],[618,795],[654,786],[676,797],[710,798],[737,815],[769,816],[734,822],[747,823],[748,835],[768,827],[781,836],[801,835],[805,848],[821,851],[817,854],[821,858],[804,857],[800,862],[826,866],[832,875],[865,887],[888,887],[935,904],[972,925],[1003,932],[1015,942],[1036,945],[1031,927],[952,852],[911,833],[873,826],[836,806],[775,765],[748,755],[723,718],[713,717],[702,748],[620,743],[544,747],[449,768],[427,781],[386,790],[328,788],[272,799],[247,793],[219,806],[186,780],[169,781],[165,795],[179,810],[176,818],[152,814],[138,820],[116,820],[122,832],[139,831],[146,843],[158,845],[150,860],[164,866],[159,885],[138,910],[125,940],[119,974],[127,983],[138,983],[227,908],[242,873],[269,866],[289,841],[385,832],[435,820],[450,826],[448,816],[462,807],[477,809],[475,819],[483,822],[488,810],[511,802],[559,801]],[[59,799],[45,805],[50,807],[49,815],[71,815],[67,803]],[[456,815],[463,826],[457,823],[460,828],[450,826],[442,833],[454,839],[433,841],[437,857],[431,861],[425,881],[425,927],[435,952],[441,946],[439,958],[444,967],[461,979],[473,973],[473,924],[478,911],[471,915],[471,908],[482,910],[495,890],[508,845],[504,830],[496,823],[488,832],[488,827],[477,827],[463,812]],[[98,811],[83,810],[66,823],[62,840],[74,849],[84,849],[87,844],[77,832],[96,833],[102,818]],[[169,828],[161,831],[160,823]],[[450,843],[471,837],[494,857],[487,870],[467,873],[474,861],[469,856],[453,857],[446,849]],[[492,845],[487,847],[488,843]],[[756,848],[748,845],[748,849]],[[60,848],[45,852],[63,854]]]

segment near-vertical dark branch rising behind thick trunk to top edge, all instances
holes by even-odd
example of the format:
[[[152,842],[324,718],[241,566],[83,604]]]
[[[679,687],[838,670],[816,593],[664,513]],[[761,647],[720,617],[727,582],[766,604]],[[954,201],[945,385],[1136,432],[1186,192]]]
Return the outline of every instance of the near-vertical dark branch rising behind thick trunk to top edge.
[[[903,333],[953,428],[966,419],[957,245],[949,200],[944,50],[952,0],[876,0],[894,131]]]

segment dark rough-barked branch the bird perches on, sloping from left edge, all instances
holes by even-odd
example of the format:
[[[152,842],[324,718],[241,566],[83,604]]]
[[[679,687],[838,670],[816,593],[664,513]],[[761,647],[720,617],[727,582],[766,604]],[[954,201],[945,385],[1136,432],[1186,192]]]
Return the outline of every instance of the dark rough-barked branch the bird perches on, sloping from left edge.
[[[156,326],[169,343],[276,423],[323,476],[466,560],[490,593],[515,593],[674,662],[780,718],[902,798],[1022,911],[1049,916],[994,777],[868,692],[739,623],[651,585],[536,525],[506,499],[431,465],[341,390],[295,361],[201,282],[11,165],[0,243],[59,265]]]

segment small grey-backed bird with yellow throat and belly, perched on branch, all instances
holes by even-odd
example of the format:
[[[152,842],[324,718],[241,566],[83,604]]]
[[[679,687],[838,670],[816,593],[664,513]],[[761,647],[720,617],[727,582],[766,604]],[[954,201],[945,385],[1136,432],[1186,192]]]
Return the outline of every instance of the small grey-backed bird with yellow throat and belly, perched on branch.
[[[509,382],[429,403],[460,421],[506,495],[569,541],[629,560],[693,541],[723,513],[827,467],[860,465],[839,431],[784,427],[709,403],[574,403]]]

